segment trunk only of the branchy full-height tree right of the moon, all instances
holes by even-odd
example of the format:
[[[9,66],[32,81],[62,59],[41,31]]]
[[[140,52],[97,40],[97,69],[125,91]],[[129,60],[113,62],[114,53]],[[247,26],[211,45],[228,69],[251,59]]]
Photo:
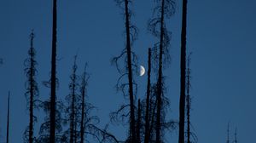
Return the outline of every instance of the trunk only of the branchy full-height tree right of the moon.
[[[163,42],[164,42],[164,14],[165,14],[165,0],[161,3],[161,17],[160,17],[160,57],[159,57],[159,71],[157,82],[157,113],[156,113],[156,142],[160,143],[160,130],[161,130],[161,102],[162,102],[162,60],[163,60]]]

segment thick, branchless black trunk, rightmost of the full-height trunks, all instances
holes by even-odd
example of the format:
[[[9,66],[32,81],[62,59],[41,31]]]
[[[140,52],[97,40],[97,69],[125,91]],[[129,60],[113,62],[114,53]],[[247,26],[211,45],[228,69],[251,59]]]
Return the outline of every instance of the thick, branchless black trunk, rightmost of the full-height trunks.
[[[183,17],[181,33],[181,64],[180,64],[180,100],[179,100],[179,132],[178,143],[184,143],[185,120],[185,87],[186,87],[186,35],[187,35],[187,0],[183,0]]]

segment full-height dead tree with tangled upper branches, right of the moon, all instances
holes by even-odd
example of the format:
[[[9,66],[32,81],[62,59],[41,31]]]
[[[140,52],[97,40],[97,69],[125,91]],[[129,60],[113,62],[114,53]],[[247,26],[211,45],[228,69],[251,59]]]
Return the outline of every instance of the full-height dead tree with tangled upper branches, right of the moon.
[[[161,140],[161,130],[163,123],[165,122],[165,113],[163,108],[164,94],[164,82],[162,75],[163,62],[168,61],[169,52],[168,47],[170,44],[170,36],[166,29],[165,19],[170,18],[174,14],[174,2],[172,0],[159,0],[156,1],[157,6],[154,8],[156,12],[156,18],[149,20],[148,29],[152,32],[155,37],[160,38],[160,42],[156,43],[154,46],[155,58],[158,62],[158,77],[157,77],[157,92],[156,92],[156,123],[155,123],[155,141],[157,143],[162,142]],[[159,52],[157,52],[159,50]]]

